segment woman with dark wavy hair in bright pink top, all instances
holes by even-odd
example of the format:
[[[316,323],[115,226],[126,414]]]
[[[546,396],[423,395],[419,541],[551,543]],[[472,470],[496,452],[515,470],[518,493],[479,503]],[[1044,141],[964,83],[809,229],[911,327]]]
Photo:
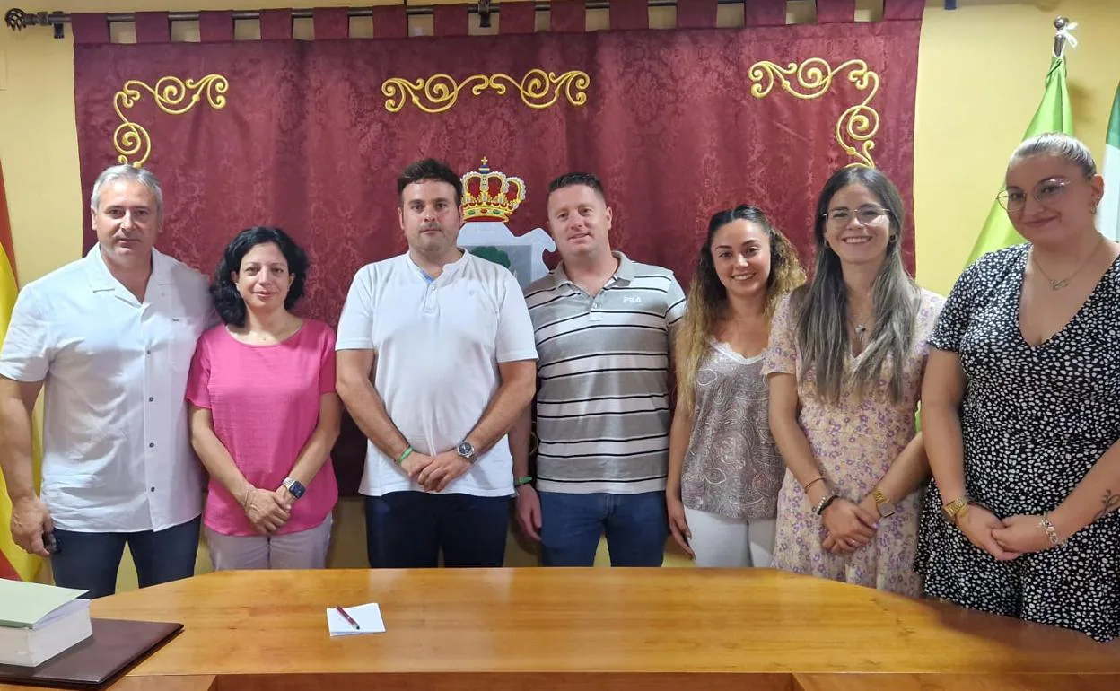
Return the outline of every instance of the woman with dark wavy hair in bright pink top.
[[[203,524],[217,570],[326,564],[342,403],[334,332],[288,311],[308,268],[283,231],[251,227],[214,277],[224,324],[198,340],[187,400],[192,443],[211,477]]]

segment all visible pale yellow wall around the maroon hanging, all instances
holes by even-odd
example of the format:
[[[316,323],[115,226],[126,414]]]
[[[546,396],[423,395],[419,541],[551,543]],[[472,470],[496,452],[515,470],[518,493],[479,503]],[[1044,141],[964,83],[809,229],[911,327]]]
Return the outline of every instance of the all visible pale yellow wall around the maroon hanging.
[[[391,0],[383,0],[391,1]],[[28,11],[230,9],[361,6],[346,0],[116,0],[25,2]],[[431,3],[422,2],[422,3]],[[15,3],[13,3],[15,4]],[[972,249],[998,190],[1007,157],[1023,137],[1042,95],[1049,63],[1052,21],[1077,21],[1080,45],[1068,52],[1070,93],[1076,133],[1103,151],[1104,129],[1120,80],[1118,0],[960,0],[945,11],[928,0],[922,30],[915,133],[915,215],[918,280],[945,293]],[[859,0],[864,16],[881,1]],[[809,0],[791,16],[811,13]],[[732,17],[721,8],[721,18]],[[739,13],[741,17],[741,13]],[[592,20],[601,21],[601,17]],[[659,17],[666,24],[664,13]],[[74,122],[73,50],[49,31],[0,29],[0,162],[20,278],[26,282],[76,259],[81,250],[77,134]],[[335,566],[362,566],[364,535],[356,501],[339,505]],[[510,560],[531,557],[511,543]],[[674,563],[679,563],[673,558]],[[205,559],[200,559],[204,567]],[[128,583],[131,576],[122,576]]]

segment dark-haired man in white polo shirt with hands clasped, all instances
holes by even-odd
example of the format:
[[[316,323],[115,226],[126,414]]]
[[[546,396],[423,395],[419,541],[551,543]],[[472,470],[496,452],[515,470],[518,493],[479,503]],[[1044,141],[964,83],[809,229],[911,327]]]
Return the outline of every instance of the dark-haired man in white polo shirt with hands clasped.
[[[517,280],[456,245],[463,184],[426,159],[396,181],[409,251],[366,264],[338,323],[338,395],[368,438],[374,568],[500,567],[536,348]]]

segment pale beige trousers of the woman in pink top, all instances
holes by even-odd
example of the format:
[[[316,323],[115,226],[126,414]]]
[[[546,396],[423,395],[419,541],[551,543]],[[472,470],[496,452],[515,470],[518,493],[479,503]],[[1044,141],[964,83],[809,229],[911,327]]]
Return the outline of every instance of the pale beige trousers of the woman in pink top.
[[[233,569],[323,569],[327,566],[330,526],[284,535],[223,535],[206,529],[206,547],[215,571]]]

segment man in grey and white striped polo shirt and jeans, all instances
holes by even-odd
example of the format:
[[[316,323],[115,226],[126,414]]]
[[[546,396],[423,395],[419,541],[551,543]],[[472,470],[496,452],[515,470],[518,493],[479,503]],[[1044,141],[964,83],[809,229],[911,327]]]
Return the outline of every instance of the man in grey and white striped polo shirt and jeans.
[[[517,520],[541,541],[544,566],[591,566],[604,532],[612,566],[661,566],[670,353],[684,292],[672,271],[610,251],[596,176],[553,180],[548,216],[561,262],[525,289],[540,446],[536,488],[517,480]],[[529,474],[530,413],[510,433],[519,478]]]

